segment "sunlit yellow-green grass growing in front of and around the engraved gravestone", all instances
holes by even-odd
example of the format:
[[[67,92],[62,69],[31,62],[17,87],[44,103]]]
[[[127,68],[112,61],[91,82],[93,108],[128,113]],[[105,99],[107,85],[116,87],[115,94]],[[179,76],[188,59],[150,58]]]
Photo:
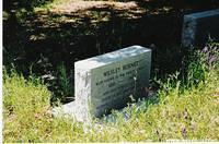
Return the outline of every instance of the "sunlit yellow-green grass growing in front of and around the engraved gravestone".
[[[104,121],[87,129],[48,112],[50,92],[38,79],[25,80],[15,72],[4,72],[3,142],[218,141],[219,64],[217,60],[209,63],[210,53],[205,50],[192,57],[184,81],[180,73],[158,81],[157,94],[140,106],[130,104],[125,108],[129,119],[114,111],[115,122]],[[219,58],[218,52],[214,56]]]

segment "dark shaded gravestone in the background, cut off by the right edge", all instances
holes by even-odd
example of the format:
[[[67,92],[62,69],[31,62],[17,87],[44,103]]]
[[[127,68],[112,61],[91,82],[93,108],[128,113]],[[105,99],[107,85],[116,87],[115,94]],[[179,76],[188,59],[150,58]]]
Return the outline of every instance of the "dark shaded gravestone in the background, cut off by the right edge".
[[[219,39],[219,9],[184,16],[182,45],[204,46],[209,36]]]

